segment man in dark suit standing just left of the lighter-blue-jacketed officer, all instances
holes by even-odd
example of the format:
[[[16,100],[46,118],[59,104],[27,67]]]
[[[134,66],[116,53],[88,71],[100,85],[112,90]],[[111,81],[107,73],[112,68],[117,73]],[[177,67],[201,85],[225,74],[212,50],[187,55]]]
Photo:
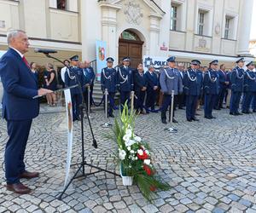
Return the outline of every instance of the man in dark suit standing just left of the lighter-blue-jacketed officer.
[[[147,83],[147,98],[146,98],[146,112],[149,113],[148,108],[154,112],[154,103],[156,101],[156,93],[159,88],[159,80],[157,74],[154,72],[154,66],[148,66],[148,72],[145,73]]]

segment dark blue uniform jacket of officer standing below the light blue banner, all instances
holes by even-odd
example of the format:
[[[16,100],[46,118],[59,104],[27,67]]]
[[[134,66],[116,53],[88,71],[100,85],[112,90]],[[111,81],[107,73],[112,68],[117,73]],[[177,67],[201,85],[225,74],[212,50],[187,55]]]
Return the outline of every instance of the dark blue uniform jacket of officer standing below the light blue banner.
[[[114,93],[116,92],[116,84],[117,84],[117,73],[113,68],[105,67],[102,69],[101,73],[101,84],[102,91],[108,89],[108,92]]]

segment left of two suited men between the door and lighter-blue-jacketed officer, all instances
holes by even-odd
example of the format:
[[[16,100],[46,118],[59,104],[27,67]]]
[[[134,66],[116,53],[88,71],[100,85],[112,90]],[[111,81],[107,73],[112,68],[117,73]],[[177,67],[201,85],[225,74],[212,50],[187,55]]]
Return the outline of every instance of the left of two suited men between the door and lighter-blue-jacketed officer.
[[[143,72],[143,64],[139,63],[137,66],[137,72],[134,74],[134,91],[136,95],[135,109],[137,110],[137,114],[145,113],[143,112],[143,103],[145,99],[147,83]]]

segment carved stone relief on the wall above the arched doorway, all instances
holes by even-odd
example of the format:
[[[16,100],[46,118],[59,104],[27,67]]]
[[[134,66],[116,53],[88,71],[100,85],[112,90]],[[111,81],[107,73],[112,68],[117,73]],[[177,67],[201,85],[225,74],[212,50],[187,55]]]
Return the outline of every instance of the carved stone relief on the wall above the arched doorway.
[[[143,19],[143,9],[136,1],[129,1],[124,4],[125,20],[130,24],[139,25]]]

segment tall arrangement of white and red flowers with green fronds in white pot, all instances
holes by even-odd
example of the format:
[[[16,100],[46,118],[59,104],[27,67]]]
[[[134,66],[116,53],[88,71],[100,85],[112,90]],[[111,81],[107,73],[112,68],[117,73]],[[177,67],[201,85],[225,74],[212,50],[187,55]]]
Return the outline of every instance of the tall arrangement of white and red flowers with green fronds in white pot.
[[[132,181],[140,188],[143,196],[152,200],[157,190],[168,190],[170,186],[157,176],[150,156],[148,144],[134,134],[135,112],[129,113],[125,103],[123,112],[116,118],[111,138],[118,145],[117,160],[125,186]]]

